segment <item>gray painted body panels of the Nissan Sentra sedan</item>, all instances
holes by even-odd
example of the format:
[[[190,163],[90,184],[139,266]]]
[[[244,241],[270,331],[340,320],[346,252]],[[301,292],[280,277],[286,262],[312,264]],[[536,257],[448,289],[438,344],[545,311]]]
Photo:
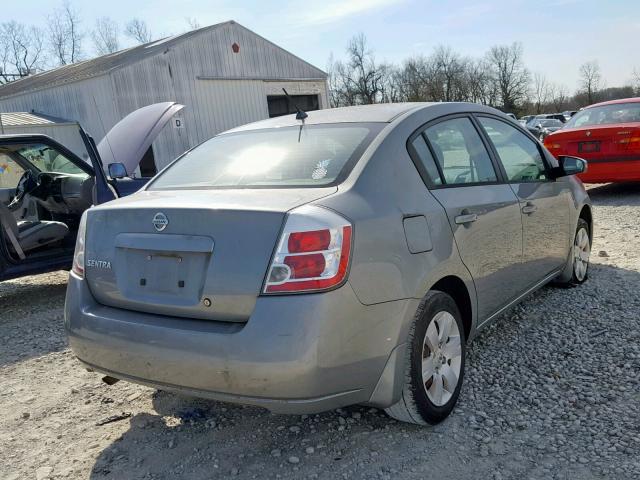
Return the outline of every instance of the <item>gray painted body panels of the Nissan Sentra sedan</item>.
[[[209,268],[219,269],[207,272],[203,288],[214,306],[217,297],[222,306],[207,317],[200,307],[172,302],[170,312],[151,316],[148,312],[161,313],[166,305],[132,304],[112,272],[88,270],[87,280],[71,275],[65,323],[74,352],[92,368],[116,377],[276,412],[315,412],[361,402],[392,405],[405,381],[408,332],[426,293],[445,277],[460,279],[471,299],[473,338],[486,320],[567,273],[572,249],[561,239],[572,237],[580,209],[589,205],[574,178],[429,191],[406,141],[426,123],[464,112],[501,115],[470,104],[312,112],[308,123],[329,122],[332,113],[342,121],[389,122],[335,189],[142,191],[90,210],[87,257],[112,261],[110,236],[150,231],[159,210],[169,217],[173,209],[180,212],[172,233],[209,235],[215,242]],[[255,127],[287,123],[295,120]],[[542,209],[545,218],[523,224],[523,202],[546,204],[552,198],[568,205],[566,221],[552,228],[549,218],[555,212]],[[348,281],[325,293],[258,295],[286,213],[309,202],[353,224]],[[478,210],[476,222],[451,221],[465,208]],[[426,222],[410,221],[407,229],[407,218]],[[524,245],[533,241],[527,237],[529,226],[555,235],[557,248],[525,252]],[[249,231],[255,238],[245,238]],[[428,249],[420,231],[431,239]],[[158,236],[158,242],[162,239]],[[411,249],[414,244],[421,245]],[[223,263],[216,267],[217,255]],[[530,268],[538,262],[540,269]]]

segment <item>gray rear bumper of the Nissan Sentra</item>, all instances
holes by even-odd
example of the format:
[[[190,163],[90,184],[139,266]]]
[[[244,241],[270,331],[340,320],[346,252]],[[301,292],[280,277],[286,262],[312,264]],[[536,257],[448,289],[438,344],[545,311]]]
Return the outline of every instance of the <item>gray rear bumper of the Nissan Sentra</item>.
[[[260,297],[246,324],[188,320],[105,307],[71,274],[65,326],[76,356],[116,378],[277,413],[312,413],[388,406],[397,398],[402,386],[391,353],[416,308],[417,300],[364,306],[347,284],[322,294]]]

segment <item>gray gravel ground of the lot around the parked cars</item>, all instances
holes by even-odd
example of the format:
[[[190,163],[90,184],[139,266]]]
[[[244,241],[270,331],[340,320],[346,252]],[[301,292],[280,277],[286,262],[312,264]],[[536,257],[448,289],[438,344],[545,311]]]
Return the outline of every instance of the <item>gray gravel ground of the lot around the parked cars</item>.
[[[67,348],[66,273],[0,283],[0,478],[640,478],[640,187],[590,193],[590,280],[484,331],[434,428],[109,387]]]

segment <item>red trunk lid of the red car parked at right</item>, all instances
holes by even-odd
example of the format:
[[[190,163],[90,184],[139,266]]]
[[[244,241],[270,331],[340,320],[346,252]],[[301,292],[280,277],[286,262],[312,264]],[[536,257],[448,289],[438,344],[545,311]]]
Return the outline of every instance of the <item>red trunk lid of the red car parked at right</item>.
[[[554,154],[600,158],[624,154],[639,146],[632,138],[640,136],[639,123],[594,125],[584,128],[562,129],[547,136]]]

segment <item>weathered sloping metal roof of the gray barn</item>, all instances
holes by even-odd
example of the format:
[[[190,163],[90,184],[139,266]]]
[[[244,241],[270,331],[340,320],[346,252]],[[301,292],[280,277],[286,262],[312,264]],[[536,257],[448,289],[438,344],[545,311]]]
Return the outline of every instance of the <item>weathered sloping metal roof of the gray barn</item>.
[[[153,42],[145,43],[143,45],[138,45],[125,50],[120,50],[119,52],[110,53],[107,55],[103,55],[101,57],[92,58],[91,60],[85,60],[83,62],[78,62],[71,65],[65,65],[62,67],[54,68],[46,72],[42,72],[36,75],[31,75],[26,78],[22,78],[15,82],[10,82],[4,85],[0,85],[0,99],[2,97],[8,97],[12,95],[27,93],[33,90],[39,90],[43,88],[51,88],[59,85],[64,85],[67,83],[76,82],[79,80],[85,80],[88,78],[97,77],[99,75],[109,73],[113,70],[119,69],[126,65],[140,62],[141,60],[152,57],[159,53],[166,52],[175,44],[183,42],[201,33],[204,33],[213,29],[221,28],[226,25],[233,25],[233,24],[245,30],[250,31],[249,29],[247,29],[246,27],[243,27],[242,25],[235,22],[234,20],[217,23],[215,25],[209,25],[207,27],[191,30],[189,32],[186,32],[180,35],[166,37],[160,40],[154,40]],[[253,33],[254,35],[257,35],[255,32],[251,32],[251,33]],[[269,42],[269,43],[272,43],[272,42]],[[284,49],[282,50],[286,52],[286,50]],[[292,55],[289,52],[286,52],[286,53],[288,53],[289,55]],[[301,62],[309,64],[308,62],[302,59],[299,59],[299,60]],[[311,66],[313,67],[313,65]],[[323,77],[326,77],[326,74],[322,70],[318,69],[317,67],[314,67],[314,68],[318,70],[318,72],[322,74]]]

